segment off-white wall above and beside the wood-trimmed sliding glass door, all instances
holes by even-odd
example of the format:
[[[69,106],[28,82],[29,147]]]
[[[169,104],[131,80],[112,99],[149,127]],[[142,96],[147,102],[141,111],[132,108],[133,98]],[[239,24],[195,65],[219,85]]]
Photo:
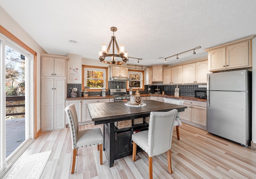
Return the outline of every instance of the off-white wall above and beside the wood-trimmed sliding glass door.
[[[28,22],[28,23],[33,23],[33,22]],[[12,19],[12,17],[9,16],[9,14],[7,14],[7,12],[1,6],[0,6],[0,25],[3,26],[10,33],[15,35],[15,37],[20,39],[23,43],[28,45],[28,47],[30,47],[37,53],[37,64],[36,64],[37,65],[37,74],[36,74],[36,76],[37,76],[37,85],[36,85],[36,89],[37,89],[37,96],[36,96],[37,126],[36,126],[36,129],[38,131],[40,129],[40,116],[41,116],[41,106],[40,106],[40,104],[41,104],[41,100],[40,100],[41,99],[41,90],[40,90],[41,89],[41,83],[40,83],[41,56],[40,56],[40,53],[46,53],[46,51],[44,51],[44,49],[42,47],[40,47],[40,45],[38,45],[38,43],[36,43],[36,41],[34,41],[34,39],[32,39],[32,37],[30,37],[30,35],[28,35],[28,33],[26,33],[26,31],[24,31],[16,23],[16,21],[14,21]]]

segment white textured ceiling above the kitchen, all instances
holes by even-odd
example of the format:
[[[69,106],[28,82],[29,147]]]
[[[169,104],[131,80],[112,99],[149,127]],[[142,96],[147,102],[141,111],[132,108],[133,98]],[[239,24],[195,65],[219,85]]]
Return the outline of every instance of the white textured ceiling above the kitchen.
[[[98,60],[115,26],[117,43],[142,58],[139,65],[206,57],[206,48],[256,34],[255,0],[0,0],[0,6],[51,54]],[[197,46],[195,55],[158,59]]]

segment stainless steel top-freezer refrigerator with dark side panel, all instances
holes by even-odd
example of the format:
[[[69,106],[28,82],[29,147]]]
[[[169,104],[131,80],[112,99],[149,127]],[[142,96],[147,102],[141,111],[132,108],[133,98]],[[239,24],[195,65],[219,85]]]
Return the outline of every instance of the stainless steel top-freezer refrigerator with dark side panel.
[[[248,146],[252,136],[252,73],[207,74],[207,131]],[[250,145],[249,145],[250,146]]]

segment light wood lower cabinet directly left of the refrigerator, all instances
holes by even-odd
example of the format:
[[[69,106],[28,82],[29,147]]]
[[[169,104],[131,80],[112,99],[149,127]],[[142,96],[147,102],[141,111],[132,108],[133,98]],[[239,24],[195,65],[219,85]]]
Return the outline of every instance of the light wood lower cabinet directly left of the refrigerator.
[[[188,108],[186,108],[184,112],[180,112],[180,120],[184,123],[206,130],[206,126],[207,126],[206,102],[184,100],[183,106],[187,106]]]

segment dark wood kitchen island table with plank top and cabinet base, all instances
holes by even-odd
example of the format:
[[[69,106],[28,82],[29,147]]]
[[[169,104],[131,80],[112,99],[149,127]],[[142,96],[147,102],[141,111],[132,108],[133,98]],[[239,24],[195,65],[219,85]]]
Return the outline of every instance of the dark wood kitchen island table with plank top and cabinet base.
[[[148,117],[150,116],[151,111],[165,112],[172,109],[177,109],[178,112],[182,112],[185,108],[187,108],[186,106],[154,100],[142,100],[142,102],[144,102],[146,106],[126,106],[125,103],[128,102],[87,104],[90,117],[92,118],[94,124],[103,124],[104,150],[106,152],[106,157],[108,158],[109,167],[114,165],[115,159],[130,155],[132,153],[131,135],[133,131],[147,130],[148,128],[148,124],[144,123],[137,124],[130,128],[118,129],[115,127],[114,122]],[[120,139],[127,142],[124,144],[124,146],[118,146],[118,144],[120,144],[120,141],[118,141],[118,136],[127,137],[126,140],[123,140],[124,138]],[[121,151],[121,153],[118,153],[118,151]]]

